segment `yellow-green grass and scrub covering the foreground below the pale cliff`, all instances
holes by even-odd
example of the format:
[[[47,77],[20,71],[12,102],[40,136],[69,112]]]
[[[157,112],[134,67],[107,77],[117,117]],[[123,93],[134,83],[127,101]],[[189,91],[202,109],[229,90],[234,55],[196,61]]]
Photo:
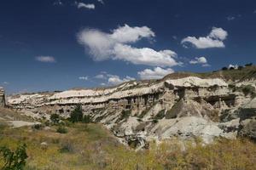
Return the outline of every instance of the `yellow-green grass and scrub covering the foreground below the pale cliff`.
[[[256,169],[256,144],[247,139],[217,139],[214,144],[187,144],[182,151],[176,141],[149,150],[135,151],[113,138],[100,124],[71,124],[67,133],[57,127],[0,127],[0,146],[15,150],[26,143],[26,169]],[[43,144],[42,144],[43,143]],[[3,159],[0,156],[0,169]]]

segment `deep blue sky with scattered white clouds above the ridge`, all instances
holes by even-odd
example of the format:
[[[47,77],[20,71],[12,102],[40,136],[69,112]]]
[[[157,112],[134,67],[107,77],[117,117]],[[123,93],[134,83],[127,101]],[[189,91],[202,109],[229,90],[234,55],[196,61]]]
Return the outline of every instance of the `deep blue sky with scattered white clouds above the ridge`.
[[[8,94],[110,86],[256,61],[256,1],[6,0]]]

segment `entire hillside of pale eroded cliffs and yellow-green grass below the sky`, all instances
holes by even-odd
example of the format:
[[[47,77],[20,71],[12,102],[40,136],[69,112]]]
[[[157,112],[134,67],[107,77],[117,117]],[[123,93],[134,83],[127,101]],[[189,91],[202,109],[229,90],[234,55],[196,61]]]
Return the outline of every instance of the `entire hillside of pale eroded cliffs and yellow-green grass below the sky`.
[[[25,143],[26,169],[253,170],[255,96],[255,66],[18,94],[0,109],[0,145]]]

